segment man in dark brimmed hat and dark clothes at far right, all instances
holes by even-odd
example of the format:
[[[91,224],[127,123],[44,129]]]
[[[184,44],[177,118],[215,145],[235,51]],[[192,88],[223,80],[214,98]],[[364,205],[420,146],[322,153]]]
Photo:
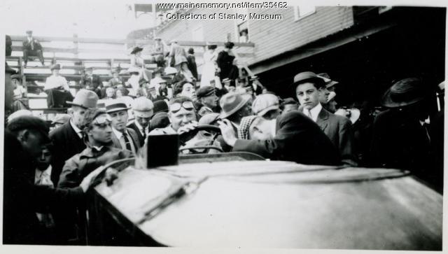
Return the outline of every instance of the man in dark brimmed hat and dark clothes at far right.
[[[372,166],[407,169],[431,181],[430,136],[426,124],[430,90],[418,78],[394,83],[383,95],[373,126]]]

